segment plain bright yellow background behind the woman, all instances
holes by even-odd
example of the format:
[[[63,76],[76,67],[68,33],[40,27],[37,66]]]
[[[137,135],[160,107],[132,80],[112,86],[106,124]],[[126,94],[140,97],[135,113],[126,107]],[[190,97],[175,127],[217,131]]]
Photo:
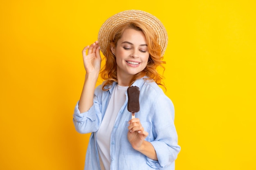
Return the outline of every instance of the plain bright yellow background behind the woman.
[[[81,51],[128,9],[168,31],[176,170],[256,169],[255,0],[1,0],[0,170],[83,169],[89,135],[72,123]]]

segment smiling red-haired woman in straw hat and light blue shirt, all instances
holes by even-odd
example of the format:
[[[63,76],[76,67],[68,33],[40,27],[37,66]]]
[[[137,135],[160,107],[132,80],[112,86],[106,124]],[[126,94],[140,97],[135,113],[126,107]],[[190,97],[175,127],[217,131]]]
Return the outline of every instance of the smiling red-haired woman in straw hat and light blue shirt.
[[[85,170],[174,170],[180,151],[174,108],[156,71],[168,41],[164,26],[144,11],[123,11],[101,26],[98,40],[83,49],[85,82],[73,119],[78,132],[92,132]],[[106,81],[94,89],[100,50]],[[134,119],[127,110],[129,86],[140,89]]]

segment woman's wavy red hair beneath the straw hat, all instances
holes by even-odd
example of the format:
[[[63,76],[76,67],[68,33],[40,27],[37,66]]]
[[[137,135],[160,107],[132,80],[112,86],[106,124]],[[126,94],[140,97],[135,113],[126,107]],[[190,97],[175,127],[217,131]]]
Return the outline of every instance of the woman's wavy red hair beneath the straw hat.
[[[106,80],[104,81],[102,90],[106,91],[107,89],[104,88],[106,85],[111,85],[113,82],[117,82],[117,63],[115,55],[112,54],[111,45],[117,45],[117,41],[121,38],[123,32],[126,29],[135,29],[137,31],[142,31],[146,37],[149,52],[148,64],[146,68],[133,76],[130,85],[132,85],[132,83],[135,82],[136,79],[147,76],[148,78],[146,79],[150,81],[155,81],[158,85],[164,86],[164,84],[162,84],[162,79],[164,77],[160,75],[156,69],[158,66],[165,69],[162,64],[166,63],[162,61],[163,56],[161,56],[161,47],[157,42],[157,34],[143,22],[132,21],[121,24],[114,31],[112,31],[110,35],[110,43],[107,46],[105,56],[106,64],[101,69],[101,77],[102,79]]]

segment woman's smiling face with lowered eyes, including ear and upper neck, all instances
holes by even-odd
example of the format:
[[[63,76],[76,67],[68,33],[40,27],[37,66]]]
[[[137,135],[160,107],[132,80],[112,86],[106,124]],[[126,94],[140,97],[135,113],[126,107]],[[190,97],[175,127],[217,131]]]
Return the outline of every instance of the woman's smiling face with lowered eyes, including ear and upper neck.
[[[116,56],[118,78],[130,78],[148,64],[148,47],[142,31],[126,29],[111,50]]]

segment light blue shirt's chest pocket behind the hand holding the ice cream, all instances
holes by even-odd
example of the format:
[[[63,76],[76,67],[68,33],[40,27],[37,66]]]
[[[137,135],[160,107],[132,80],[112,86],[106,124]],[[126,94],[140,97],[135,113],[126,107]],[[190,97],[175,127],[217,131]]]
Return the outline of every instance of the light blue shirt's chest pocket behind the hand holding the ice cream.
[[[152,123],[150,122],[141,122],[141,125],[144,127],[144,130],[146,132],[151,131],[152,129]],[[123,132],[121,135],[121,139],[120,139],[120,150],[121,150],[121,154],[124,155],[134,155],[134,154],[138,154],[140,152],[138,152],[137,150],[133,149],[130,142],[127,139],[127,134],[128,134],[128,121],[125,121],[124,123],[124,127],[123,127]],[[147,140],[148,137],[146,137],[145,140]]]

